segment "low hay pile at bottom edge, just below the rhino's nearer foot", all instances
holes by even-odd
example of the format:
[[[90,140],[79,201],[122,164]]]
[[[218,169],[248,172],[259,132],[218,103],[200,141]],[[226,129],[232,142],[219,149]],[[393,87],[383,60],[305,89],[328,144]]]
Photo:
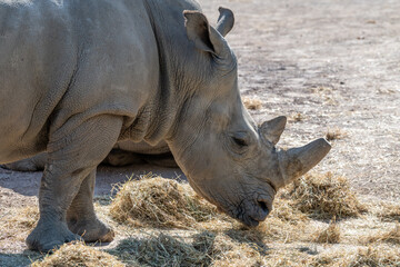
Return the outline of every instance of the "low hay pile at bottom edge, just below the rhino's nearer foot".
[[[47,255],[42,260],[37,260],[31,265],[31,267],[53,267],[53,266],[124,267],[126,265],[119,261],[112,255],[86,246],[83,243],[69,243],[62,245],[53,254]],[[130,266],[139,266],[139,265],[137,264]]]

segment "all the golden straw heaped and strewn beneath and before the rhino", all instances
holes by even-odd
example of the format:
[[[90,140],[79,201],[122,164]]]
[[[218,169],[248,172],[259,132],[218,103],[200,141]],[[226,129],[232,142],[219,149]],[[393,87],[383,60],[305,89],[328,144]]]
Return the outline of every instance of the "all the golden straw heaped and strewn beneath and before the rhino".
[[[276,197],[271,215],[257,228],[216,214],[187,184],[147,176],[129,180],[110,204],[111,216],[128,229],[148,226],[101,253],[83,244],[64,245],[38,266],[390,266],[400,267],[399,228],[373,247],[347,243],[340,221],[309,218],[358,216],[363,207],[344,178],[307,176]],[[301,210],[303,210],[303,214]],[[309,215],[309,216],[307,216]],[[31,220],[29,220],[31,221]],[[26,224],[26,222],[23,222]],[[392,224],[392,222],[386,222]],[[30,225],[30,224],[28,224]],[[154,229],[151,227],[158,227]],[[171,229],[171,228],[178,229]],[[179,229],[179,228],[183,228]],[[188,229],[191,228],[191,229]],[[344,239],[344,240],[342,240]],[[343,243],[343,244],[341,244]],[[319,244],[334,244],[323,245]],[[389,246],[390,245],[390,246]],[[300,248],[309,248],[307,251]],[[66,264],[68,263],[68,264]]]

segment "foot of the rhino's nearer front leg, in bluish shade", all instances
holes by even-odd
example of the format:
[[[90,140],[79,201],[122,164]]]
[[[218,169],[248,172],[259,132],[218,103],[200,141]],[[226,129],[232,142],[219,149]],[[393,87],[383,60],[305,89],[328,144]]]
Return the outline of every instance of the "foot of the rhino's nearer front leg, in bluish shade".
[[[39,221],[26,243],[29,249],[47,253],[73,240],[81,240],[81,237],[70,231],[64,224],[49,225]]]

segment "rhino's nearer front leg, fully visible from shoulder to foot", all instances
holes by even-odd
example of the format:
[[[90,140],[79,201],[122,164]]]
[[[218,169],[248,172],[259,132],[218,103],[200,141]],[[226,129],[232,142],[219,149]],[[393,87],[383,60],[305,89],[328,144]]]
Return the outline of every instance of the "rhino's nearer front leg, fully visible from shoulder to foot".
[[[70,121],[73,121],[73,117]],[[77,121],[82,120],[77,118]],[[80,239],[67,224],[67,210],[82,189],[82,182],[94,174],[117,142],[122,118],[97,116],[77,127],[54,129],[48,145],[48,160],[39,191],[40,219],[27,238],[30,249],[48,251],[63,243]],[[70,130],[73,129],[73,130]],[[91,179],[87,181],[91,182]],[[82,186],[82,187],[81,187]],[[82,199],[78,195],[77,201]],[[73,209],[74,206],[72,206]],[[94,211],[92,211],[94,212]]]

